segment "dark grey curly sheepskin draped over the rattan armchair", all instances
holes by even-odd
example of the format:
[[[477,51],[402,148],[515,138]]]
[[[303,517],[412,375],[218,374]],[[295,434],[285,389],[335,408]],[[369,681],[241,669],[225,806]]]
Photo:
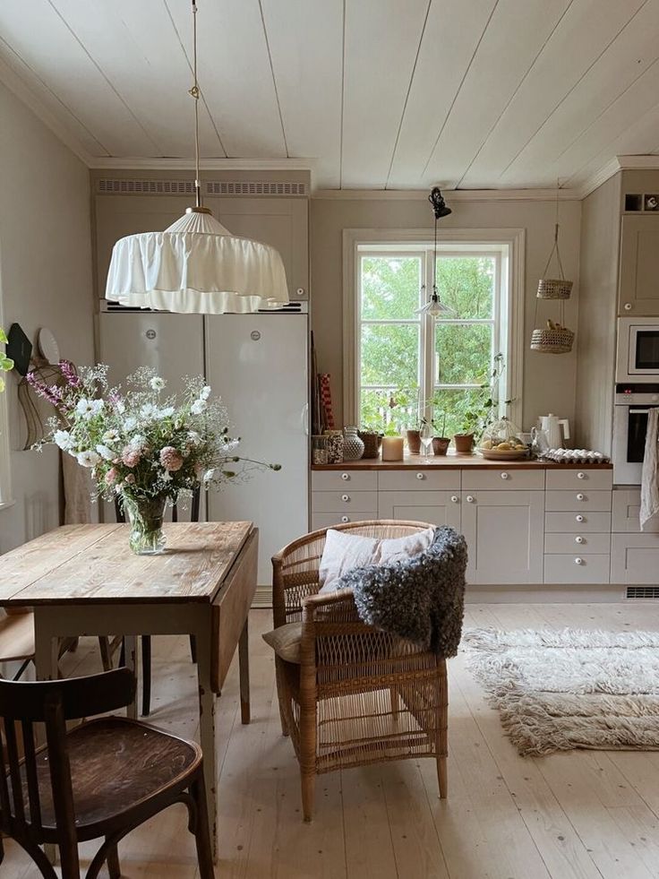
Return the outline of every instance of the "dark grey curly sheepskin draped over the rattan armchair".
[[[462,633],[465,570],[466,541],[443,526],[417,556],[354,568],[336,587],[353,590],[364,623],[449,657],[458,652]]]

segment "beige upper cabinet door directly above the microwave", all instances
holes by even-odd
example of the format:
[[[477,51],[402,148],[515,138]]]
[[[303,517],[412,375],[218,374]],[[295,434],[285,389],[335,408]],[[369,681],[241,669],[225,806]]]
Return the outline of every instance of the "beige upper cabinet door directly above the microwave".
[[[659,315],[659,215],[622,218],[620,315]]]

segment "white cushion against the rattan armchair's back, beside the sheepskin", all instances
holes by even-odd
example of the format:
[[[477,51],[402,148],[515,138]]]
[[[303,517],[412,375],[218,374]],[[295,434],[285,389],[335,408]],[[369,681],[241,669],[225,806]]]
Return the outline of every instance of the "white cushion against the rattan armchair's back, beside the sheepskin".
[[[335,582],[353,568],[389,564],[418,555],[431,545],[434,533],[433,528],[426,528],[405,537],[379,540],[330,528],[319,565],[319,591],[333,592]]]

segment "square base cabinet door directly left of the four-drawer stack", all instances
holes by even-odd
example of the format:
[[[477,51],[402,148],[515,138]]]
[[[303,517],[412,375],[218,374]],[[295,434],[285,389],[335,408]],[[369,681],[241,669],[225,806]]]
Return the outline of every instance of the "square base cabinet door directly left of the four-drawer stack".
[[[463,492],[462,531],[467,582],[543,582],[544,492]]]

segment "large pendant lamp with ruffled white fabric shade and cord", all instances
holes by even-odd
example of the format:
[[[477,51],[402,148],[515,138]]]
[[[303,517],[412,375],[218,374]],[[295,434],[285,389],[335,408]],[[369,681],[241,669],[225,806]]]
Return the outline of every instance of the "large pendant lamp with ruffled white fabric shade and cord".
[[[223,315],[288,302],[284,263],[269,245],[232,235],[201,203],[197,6],[193,0],[194,181],[196,205],[164,232],[120,238],[107,271],[106,298],[123,306]]]

